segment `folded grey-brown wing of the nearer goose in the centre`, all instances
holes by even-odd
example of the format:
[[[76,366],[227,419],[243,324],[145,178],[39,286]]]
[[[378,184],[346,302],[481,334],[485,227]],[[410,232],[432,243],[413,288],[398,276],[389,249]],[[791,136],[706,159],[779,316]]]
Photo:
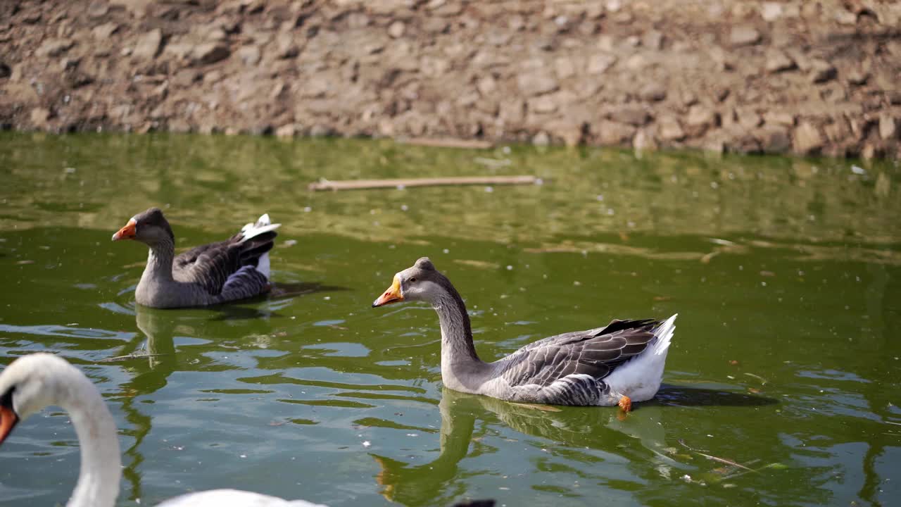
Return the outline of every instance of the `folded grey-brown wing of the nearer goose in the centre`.
[[[546,387],[571,374],[603,379],[616,366],[642,354],[656,336],[653,319],[614,320],[605,327],[544,338],[501,361],[501,376],[511,386]]]

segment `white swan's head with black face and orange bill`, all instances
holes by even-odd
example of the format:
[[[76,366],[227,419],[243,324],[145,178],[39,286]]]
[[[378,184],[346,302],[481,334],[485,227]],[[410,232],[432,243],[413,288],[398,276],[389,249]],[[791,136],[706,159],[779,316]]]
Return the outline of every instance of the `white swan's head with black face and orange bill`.
[[[59,371],[74,366],[52,354],[23,355],[0,372],[0,444],[20,420],[48,405],[63,405],[68,382]]]

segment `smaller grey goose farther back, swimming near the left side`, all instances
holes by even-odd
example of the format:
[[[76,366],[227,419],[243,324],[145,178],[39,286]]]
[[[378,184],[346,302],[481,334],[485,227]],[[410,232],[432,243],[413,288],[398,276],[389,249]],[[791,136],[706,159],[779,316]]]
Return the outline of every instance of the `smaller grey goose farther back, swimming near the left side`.
[[[147,267],[134,300],[153,308],[183,308],[243,300],[269,290],[269,256],[275,229],[263,215],[229,239],[175,254],[175,235],[163,212],[151,207],[132,217],[113,241],[147,244]]]

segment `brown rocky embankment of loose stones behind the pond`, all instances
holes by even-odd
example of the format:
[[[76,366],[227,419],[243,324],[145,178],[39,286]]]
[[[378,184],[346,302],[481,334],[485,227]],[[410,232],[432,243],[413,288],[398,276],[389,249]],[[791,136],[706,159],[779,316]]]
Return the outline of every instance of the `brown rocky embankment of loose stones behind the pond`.
[[[0,123],[901,157],[892,0],[6,0]]]

